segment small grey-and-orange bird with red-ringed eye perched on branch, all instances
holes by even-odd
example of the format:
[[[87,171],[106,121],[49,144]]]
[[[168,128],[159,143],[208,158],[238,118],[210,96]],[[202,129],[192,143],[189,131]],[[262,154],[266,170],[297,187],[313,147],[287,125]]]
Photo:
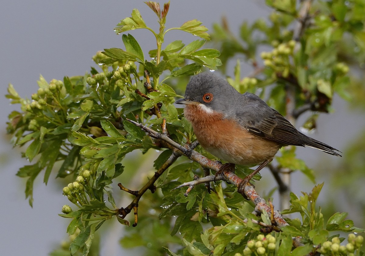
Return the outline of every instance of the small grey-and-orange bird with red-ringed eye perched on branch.
[[[184,98],[175,103],[185,105],[184,116],[200,145],[227,162],[222,168],[259,165],[245,183],[284,146],[308,146],[341,157],[341,151],[301,133],[257,95],[239,93],[212,72],[193,76]]]

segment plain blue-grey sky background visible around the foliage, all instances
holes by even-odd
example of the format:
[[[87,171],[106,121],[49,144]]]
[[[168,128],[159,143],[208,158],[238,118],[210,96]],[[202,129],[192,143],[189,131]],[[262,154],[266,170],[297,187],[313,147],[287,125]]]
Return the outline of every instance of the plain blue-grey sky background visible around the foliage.
[[[38,89],[39,74],[47,81],[62,79],[65,75],[85,74],[90,66],[96,66],[91,57],[97,50],[123,47],[122,37],[116,35],[113,28],[121,19],[129,17],[133,8],[141,12],[147,25],[153,24],[151,27],[157,29],[157,16],[143,1],[3,1],[0,8],[0,94],[6,94],[7,84],[12,83],[20,95],[30,98]],[[180,26],[187,20],[199,19],[211,29],[214,22],[220,22],[222,15],[226,15],[232,31],[237,34],[243,20],[265,17],[268,12],[270,9],[264,1],[172,0],[166,27]],[[155,49],[150,32],[134,30],[129,33],[140,42],[145,53]],[[170,36],[165,44],[174,37],[183,39],[184,43],[196,39],[180,31],[173,31]],[[242,66],[246,68],[242,74],[249,74],[250,66]],[[228,72],[228,75],[232,74],[233,71]],[[19,167],[28,163],[20,158],[19,150],[12,149],[9,137],[5,136],[7,115],[19,107],[9,105],[5,98],[0,104],[3,135],[0,145],[1,255],[47,255],[62,239],[67,238],[66,226],[69,220],[57,214],[61,213],[62,205],[68,204],[68,200],[62,196],[62,185],[54,181],[54,173],[48,186],[41,184],[42,177],[36,180],[33,208],[24,200],[25,180],[16,177],[15,173]],[[361,113],[349,114],[346,103],[338,97],[334,99],[334,106],[336,112],[323,115],[318,131],[312,136],[344,150],[346,142],[359,131],[354,128],[356,125],[348,124],[365,125],[365,121]],[[308,148],[300,148],[298,155],[312,167],[330,158]],[[271,178],[267,171],[262,174]],[[312,187],[300,173],[295,174],[293,179],[300,183],[295,187],[295,193],[309,191]],[[101,255],[121,255],[118,240],[123,229],[126,227],[119,225],[117,236],[103,239]]]

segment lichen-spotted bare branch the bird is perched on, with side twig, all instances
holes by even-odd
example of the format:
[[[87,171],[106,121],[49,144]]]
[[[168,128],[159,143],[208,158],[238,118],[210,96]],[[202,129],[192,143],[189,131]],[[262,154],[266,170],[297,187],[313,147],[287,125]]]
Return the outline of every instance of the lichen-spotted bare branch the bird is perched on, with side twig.
[[[268,212],[269,216],[271,214],[273,214],[274,221],[278,227],[289,225],[284,220],[284,218],[280,215],[280,213],[278,213],[277,211],[272,212],[270,206],[268,204],[266,204],[265,199],[263,199],[260,195],[258,195],[258,193],[254,189],[254,186],[250,182],[247,182],[246,184],[242,184],[244,179],[238,177],[236,174],[231,172],[231,170],[228,168],[222,169],[222,167],[223,167],[222,163],[220,163],[218,161],[212,161],[212,160],[208,159],[207,157],[204,157],[203,155],[199,154],[192,148],[183,147],[180,144],[174,142],[168,136],[161,134],[159,132],[156,132],[153,129],[146,127],[142,123],[137,123],[137,122],[135,122],[133,120],[129,120],[129,119],[127,119],[127,120],[130,121],[132,124],[135,124],[138,127],[140,127],[143,131],[147,132],[148,135],[151,136],[152,138],[163,140],[170,146],[176,148],[178,150],[179,154],[185,155],[192,161],[200,163],[200,165],[203,166],[203,168],[204,167],[209,168],[211,170],[215,170],[216,172],[218,172],[217,176],[210,175],[210,176],[199,178],[199,179],[196,179],[196,180],[193,180],[190,182],[185,182],[185,183],[179,185],[178,187],[176,187],[175,189],[181,188],[181,187],[189,187],[188,191],[190,191],[197,184],[216,181],[216,180],[228,181],[231,184],[234,184],[236,187],[239,187],[239,186],[241,187],[242,196],[248,198],[249,200],[251,200],[251,202],[254,203],[255,211],[257,211],[257,212],[266,211],[266,212]],[[219,171],[221,171],[221,172],[219,173]]]

